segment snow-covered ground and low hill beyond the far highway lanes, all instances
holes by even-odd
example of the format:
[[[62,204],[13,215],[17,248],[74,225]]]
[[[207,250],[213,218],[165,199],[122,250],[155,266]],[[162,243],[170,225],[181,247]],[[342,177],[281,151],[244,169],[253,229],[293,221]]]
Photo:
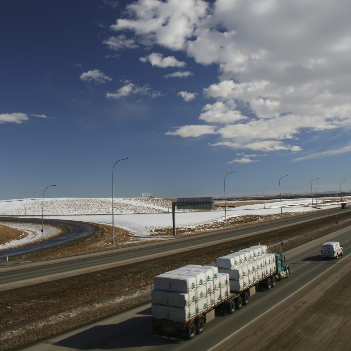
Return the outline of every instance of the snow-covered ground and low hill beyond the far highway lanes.
[[[350,199],[343,198],[343,202]],[[252,201],[257,202],[257,201]],[[280,215],[280,201],[252,204],[227,208],[227,218],[248,215]],[[237,206],[237,201],[227,201],[227,206]],[[313,201],[316,205],[316,201]],[[0,201],[0,216],[33,218],[57,218],[79,220],[98,224],[112,224],[112,198],[46,198],[44,206],[42,199],[2,200]],[[265,208],[264,208],[265,207]],[[314,211],[340,207],[340,198],[319,198]],[[312,201],[308,199],[282,200],[283,214],[297,214],[312,211]],[[163,198],[115,198],[114,225],[130,231],[140,239],[147,239],[155,229],[172,228],[172,204]],[[225,220],[224,210],[212,211],[176,211],[176,225],[196,228],[198,225],[211,224]],[[8,225],[3,223],[4,225]],[[39,224],[12,224],[12,227],[24,232],[20,240],[9,241],[0,245],[0,250],[11,249],[19,244],[32,243],[41,237]],[[45,228],[46,237],[54,236],[57,232],[53,227]]]

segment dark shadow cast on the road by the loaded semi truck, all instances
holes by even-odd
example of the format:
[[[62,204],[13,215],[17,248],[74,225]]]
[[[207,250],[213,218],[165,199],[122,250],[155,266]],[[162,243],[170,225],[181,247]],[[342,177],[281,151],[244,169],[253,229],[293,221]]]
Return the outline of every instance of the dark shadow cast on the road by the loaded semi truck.
[[[88,327],[54,345],[78,350],[118,350],[151,344],[175,344],[183,341],[152,336],[151,309],[148,308],[138,314],[140,317],[133,317],[121,323]]]

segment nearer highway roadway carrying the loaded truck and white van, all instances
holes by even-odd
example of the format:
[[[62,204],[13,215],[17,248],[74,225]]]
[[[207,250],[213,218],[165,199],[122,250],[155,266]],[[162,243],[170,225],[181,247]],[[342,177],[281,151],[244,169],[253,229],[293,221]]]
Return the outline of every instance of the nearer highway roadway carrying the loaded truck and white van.
[[[350,234],[351,227],[348,227],[285,252],[292,273],[289,278],[277,282],[276,287],[271,291],[256,293],[251,297],[249,305],[243,306],[241,310],[232,315],[217,313],[216,319],[205,325],[204,333],[197,335],[193,340],[153,337],[150,304],[148,304],[64,335],[53,337],[45,342],[27,347],[26,350],[242,350],[243,345],[239,348],[232,347],[234,343],[238,342],[245,345],[245,340],[241,340],[245,335],[251,335],[252,338],[255,338],[256,332],[251,328],[256,328],[257,333],[264,326],[268,326],[266,329],[269,330],[269,326],[273,326],[274,316],[278,312],[282,314],[283,321],[290,322],[290,315],[285,315],[282,309],[287,309],[289,306],[293,309],[304,309],[304,300],[308,300],[308,294],[319,292],[320,285],[318,284],[320,282],[323,283],[337,270],[350,270]],[[345,254],[337,260],[323,260],[319,256],[320,244],[331,239],[340,241],[344,245]],[[294,299],[298,295],[300,299]],[[327,318],[327,316],[323,318]],[[275,326],[275,328],[278,329],[269,331],[273,336],[279,332],[279,326]],[[246,332],[244,333],[244,331]],[[299,331],[300,334],[303,334],[303,331]],[[288,335],[286,337],[289,339]],[[306,337],[308,338],[308,335]],[[294,343],[290,339],[289,342],[291,345]],[[260,338],[257,337],[253,340],[252,344],[254,343],[256,346],[253,345],[251,349],[257,348]],[[310,344],[313,345],[313,340],[310,340]],[[261,349],[265,349],[264,345],[260,346]]]

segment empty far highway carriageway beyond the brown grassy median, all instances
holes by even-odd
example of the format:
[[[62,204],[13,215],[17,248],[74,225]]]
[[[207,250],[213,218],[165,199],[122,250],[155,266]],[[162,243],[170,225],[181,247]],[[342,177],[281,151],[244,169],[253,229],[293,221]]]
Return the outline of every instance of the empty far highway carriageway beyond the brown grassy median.
[[[176,238],[154,244],[130,246],[123,249],[81,255],[74,258],[27,263],[12,267],[0,266],[0,291],[107,269],[154,257],[167,256],[170,253],[184,252],[186,250],[231,241],[233,238],[238,239],[257,233],[270,232],[339,213],[340,210],[314,211],[300,216],[283,217],[279,220],[242,226],[238,229],[227,229],[187,238]]]

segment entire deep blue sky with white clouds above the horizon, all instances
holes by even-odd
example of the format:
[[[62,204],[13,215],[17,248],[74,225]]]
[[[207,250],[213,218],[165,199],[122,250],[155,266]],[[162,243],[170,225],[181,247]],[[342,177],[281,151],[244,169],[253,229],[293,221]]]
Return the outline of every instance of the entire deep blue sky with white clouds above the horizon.
[[[0,199],[351,189],[351,5],[4,0]],[[168,191],[169,190],[169,191]],[[36,193],[41,196],[41,193]]]

